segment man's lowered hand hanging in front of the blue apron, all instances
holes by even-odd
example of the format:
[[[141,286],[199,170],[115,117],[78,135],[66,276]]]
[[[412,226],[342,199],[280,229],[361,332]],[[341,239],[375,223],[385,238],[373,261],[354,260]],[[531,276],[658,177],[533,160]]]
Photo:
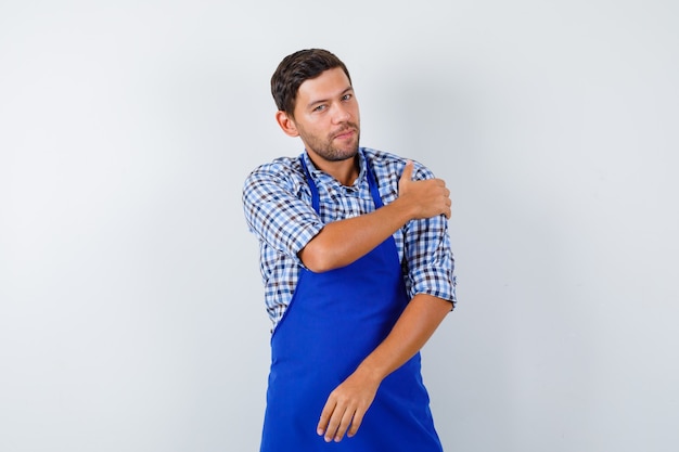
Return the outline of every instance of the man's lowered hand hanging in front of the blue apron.
[[[345,432],[349,438],[356,435],[363,415],[375,398],[380,383],[360,371],[349,375],[328,397],[318,423],[318,435],[324,436],[326,442],[342,441]]]

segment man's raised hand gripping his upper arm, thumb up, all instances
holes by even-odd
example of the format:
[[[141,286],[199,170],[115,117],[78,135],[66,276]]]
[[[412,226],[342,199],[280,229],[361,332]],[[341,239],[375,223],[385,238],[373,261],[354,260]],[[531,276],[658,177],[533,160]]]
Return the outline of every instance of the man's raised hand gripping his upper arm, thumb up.
[[[413,163],[408,160],[398,181],[398,198],[414,207],[414,219],[445,215],[450,218],[450,190],[443,179],[412,180]]]

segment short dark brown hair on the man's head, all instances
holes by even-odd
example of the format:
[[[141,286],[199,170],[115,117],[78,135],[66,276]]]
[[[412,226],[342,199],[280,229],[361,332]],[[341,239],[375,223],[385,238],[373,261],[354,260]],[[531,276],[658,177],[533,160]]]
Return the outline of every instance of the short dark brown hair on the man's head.
[[[344,63],[326,50],[306,49],[285,56],[271,76],[271,94],[278,109],[293,116],[299,86],[335,67],[342,67],[350,83],[351,77]]]

